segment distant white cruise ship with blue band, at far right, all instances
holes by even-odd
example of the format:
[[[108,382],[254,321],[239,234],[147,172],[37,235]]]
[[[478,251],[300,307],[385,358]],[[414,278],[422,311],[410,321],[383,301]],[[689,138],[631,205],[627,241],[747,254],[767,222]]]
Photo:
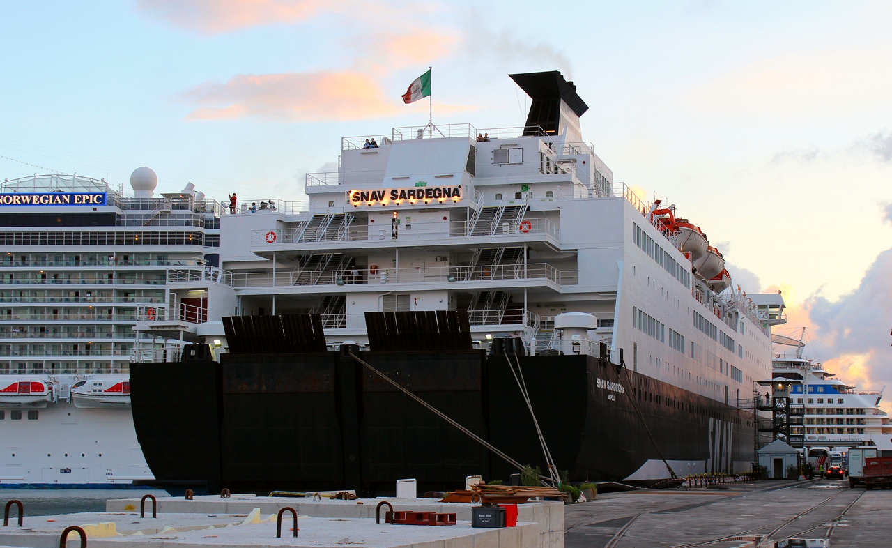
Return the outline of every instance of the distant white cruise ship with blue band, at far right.
[[[789,337],[776,337],[789,344]],[[803,357],[801,342],[796,352],[775,352],[773,377],[797,381],[789,389],[790,407],[804,408],[802,426],[791,426],[805,447],[846,448],[876,445],[892,450],[892,421],[880,409],[882,392],[858,390],[824,369],[820,361]]]

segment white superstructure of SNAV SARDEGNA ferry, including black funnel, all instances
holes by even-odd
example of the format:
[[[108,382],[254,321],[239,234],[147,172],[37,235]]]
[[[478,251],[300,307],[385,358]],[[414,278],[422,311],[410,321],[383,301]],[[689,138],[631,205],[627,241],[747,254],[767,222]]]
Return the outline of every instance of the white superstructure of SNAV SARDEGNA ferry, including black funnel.
[[[571,82],[512,78],[533,97],[523,128],[344,137],[339,170],[307,175],[308,202],[239,203],[221,220],[213,290],[239,314],[318,312],[330,345],[364,344],[366,311],[467,309],[480,345],[520,336],[533,352],[598,355],[606,343],[650,377],[731,405],[750,398],[782,319],[731,284],[674,205],[614,182],[582,141],[588,107]],[[556,328],[565,312],[595,322],[570,345]]]

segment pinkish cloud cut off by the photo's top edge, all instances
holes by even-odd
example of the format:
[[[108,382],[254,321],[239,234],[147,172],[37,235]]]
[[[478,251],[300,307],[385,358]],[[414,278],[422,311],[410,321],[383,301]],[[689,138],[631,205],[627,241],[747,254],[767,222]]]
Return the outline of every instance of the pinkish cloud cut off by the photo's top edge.
[[[300,23],[349,4],[313,0],[136,0],[136,9],[184,29],[219,34]]]

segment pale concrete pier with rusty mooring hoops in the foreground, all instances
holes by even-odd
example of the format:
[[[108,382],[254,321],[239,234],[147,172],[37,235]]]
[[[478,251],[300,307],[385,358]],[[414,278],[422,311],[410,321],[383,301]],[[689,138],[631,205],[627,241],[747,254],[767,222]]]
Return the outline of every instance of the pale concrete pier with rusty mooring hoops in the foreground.
[[[387,500],[394,511],[454,513],[454,526],[409,526],[376,523],[376,506]],[[221,546],[314,546],[341,548],[360,544],[371,548],[560,548],[564,544],[563,502],[534,501],[518,506],[516,527],[471,527],[471,504],[441,503],[434,499],[365,499],[313,501],[307,498],[257,497],[234,494],[229,498],[197,496],[194,500],[161,497],[157,518],[146,501],[145,518],[139,517],[140,499],[106,503],[108,511],[26,517],[24,527],[0,528],[0,548],[29,546],[54,548],[65,527],[82,527],[91,548],[197,548]],[[298,536],[286,513],[282,536],[277,538],[277,512],[291,507],[299,514]],[[77,546],[78,535],[69,535]]]

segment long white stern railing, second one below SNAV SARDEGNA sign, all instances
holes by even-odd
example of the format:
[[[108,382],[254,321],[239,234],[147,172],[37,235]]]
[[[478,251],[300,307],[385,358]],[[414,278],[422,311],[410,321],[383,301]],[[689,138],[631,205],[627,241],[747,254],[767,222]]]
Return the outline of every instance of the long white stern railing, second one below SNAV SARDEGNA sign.
[[[539,262],[518,265],[477,266],[418,266],[399,269],[317,270],[312,272],[285,271],[275,275],[269,271],[233,272],[234,287],[286,287],[286,286],[351,286],[403,283],[467,283],[522,279],[545,279],[555,284],[576,284],[574,270],[558,270]],[[475,284],[476,285],[476,284]],[[0,316],[0,319],[3,317]]]

